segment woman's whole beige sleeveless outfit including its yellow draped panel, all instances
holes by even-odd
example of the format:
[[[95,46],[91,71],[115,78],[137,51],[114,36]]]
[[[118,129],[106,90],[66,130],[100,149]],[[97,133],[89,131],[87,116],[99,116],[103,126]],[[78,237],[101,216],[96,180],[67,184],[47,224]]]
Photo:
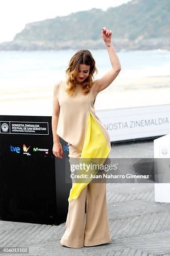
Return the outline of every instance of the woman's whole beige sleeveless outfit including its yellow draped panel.
[[[56,133],[69,145],[69,161],[82,155],[85,158],[107,158],[111,150],[110,137],[95,113],[92,88],[83,95],[81,84],[76,84],[74,95],[70,96],[65,92],[66,87],[66,81],[60,81],[57,92],[60,115]],[[80,189],[72,184],[68,201],[66,230],[60,241],[63,246],[82,248],[111,241],[106,183],[90,182]]]

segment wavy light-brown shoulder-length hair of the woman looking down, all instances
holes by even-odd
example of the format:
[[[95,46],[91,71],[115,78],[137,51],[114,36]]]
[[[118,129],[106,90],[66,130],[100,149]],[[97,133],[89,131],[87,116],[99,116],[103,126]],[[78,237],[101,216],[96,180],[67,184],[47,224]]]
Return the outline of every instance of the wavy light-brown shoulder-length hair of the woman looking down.
[[[92,54],[89,50],[82,49],[76,51],[76,53],[70,59],[68,64],[68,68],[66,69],[66,76],[67,76],[67,88],[66,92],[69,95],[73,95],[75,92],[75,78],[79,74],[79,66],[80,64],[85,64],[90,66],[90,72],[88,77],[82,82],[82,94],[88,94],[90,92],[90,88],[93,83],[93,74],[96,72],[97,74],[97,67],[95,67],[95,60],[92,57]]]

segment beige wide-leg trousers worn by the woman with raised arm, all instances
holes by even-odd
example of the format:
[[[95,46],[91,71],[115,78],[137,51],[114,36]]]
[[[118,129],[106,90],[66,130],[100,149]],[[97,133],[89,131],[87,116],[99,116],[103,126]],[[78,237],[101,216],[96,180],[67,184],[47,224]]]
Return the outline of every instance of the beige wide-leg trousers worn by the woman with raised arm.
[[[69,145],[69,157],[80,158],[80,154],[72,145]],[[65,233],[60,240],[63,246],[82,248],[111,241],[107,216],[106,183],[90,182],[76,199],[69,201],[65,228]]]

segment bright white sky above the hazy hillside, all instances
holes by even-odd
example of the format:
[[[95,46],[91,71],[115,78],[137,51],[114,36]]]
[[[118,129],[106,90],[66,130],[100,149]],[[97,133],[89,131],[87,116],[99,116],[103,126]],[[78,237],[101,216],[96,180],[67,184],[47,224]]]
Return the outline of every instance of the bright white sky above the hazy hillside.
[[[131,0],[1,0],[0,1],[0,43],[12,41],[15,34],[34,21],[65,16],[92,8],[107,10]]]

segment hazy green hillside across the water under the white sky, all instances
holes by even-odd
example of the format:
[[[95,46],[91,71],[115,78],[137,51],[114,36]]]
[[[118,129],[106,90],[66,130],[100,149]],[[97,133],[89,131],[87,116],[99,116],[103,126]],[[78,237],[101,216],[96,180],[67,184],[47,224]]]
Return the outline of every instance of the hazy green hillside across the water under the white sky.
[[[106,11],[94,8],[29,23],[12,42],[0,44],[0,49],[5,44],[26,49],[68,49],[84,45],[101,48],[103,26],[112,30],[112,40],[118,48],[131,45],[132,49],[135,46],[138,49],[143,44],[167,48],[169,24],[169,0],[133,0]]]

